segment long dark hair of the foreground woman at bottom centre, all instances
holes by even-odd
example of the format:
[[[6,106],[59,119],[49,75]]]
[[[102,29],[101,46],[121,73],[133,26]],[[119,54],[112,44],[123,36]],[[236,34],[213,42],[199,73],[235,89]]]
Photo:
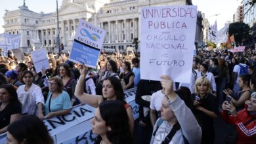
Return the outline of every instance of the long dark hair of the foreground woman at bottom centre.
[[[111,130],[106,131],[108,140],[113,144],[133,143],[131,132],[129,131],[129,118],[123,103],[117,100],[108,100],[100,103],[98,108],[106,126],[111,128]],[[98,144],[101,140],[102,137],[98,135],[95,143]]]

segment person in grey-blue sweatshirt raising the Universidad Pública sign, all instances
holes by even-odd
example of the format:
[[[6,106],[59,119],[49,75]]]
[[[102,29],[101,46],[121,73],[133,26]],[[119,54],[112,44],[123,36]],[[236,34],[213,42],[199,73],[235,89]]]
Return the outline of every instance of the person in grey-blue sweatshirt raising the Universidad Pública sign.
[[[200,143],[202,130],[190,109],[173,90],[169,76],[161,76],[165,97],[161,106],[161,118],[154,126],[150,144],[153,143]]]

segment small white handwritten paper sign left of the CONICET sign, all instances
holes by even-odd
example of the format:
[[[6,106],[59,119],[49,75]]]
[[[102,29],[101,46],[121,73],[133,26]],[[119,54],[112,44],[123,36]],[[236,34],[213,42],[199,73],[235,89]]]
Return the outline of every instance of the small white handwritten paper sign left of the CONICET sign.
[[[45,48],[39,50],[33,50],[31,52],[33,65],[35,66],[35,71],[37,73],[41,72],[42,69],[49,69],[49,60],[47,57],[47,50]]]

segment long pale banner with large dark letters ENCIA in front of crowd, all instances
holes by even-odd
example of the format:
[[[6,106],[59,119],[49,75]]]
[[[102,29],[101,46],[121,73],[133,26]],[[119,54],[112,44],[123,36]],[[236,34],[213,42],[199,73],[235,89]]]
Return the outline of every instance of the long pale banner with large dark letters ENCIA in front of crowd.
[[[133,117],[139,118],[139,105],[135,103],[137,88],[125,90],[125,100],[133,109]],[[54,143],[82,144],[94,143],[96,135],[91,132],[91,119],[94,117],[95,108],[89,105],[77,105],[68,115],[53,117],[43,120]],[[0,135],[0,144],[6,141],[6,133]]]

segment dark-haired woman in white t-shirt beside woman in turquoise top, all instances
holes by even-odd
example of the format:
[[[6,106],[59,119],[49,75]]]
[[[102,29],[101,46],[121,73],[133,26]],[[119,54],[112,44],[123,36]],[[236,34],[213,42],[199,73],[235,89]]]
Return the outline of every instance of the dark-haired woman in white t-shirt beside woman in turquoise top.
[[[39,86],[33,84],[33,73],[24,71],[22,74],[22,82],[25,84],[18,87],[18,99],[22,103],[22,115],[37,115],[43,119],[43,99],[42,90]]]

